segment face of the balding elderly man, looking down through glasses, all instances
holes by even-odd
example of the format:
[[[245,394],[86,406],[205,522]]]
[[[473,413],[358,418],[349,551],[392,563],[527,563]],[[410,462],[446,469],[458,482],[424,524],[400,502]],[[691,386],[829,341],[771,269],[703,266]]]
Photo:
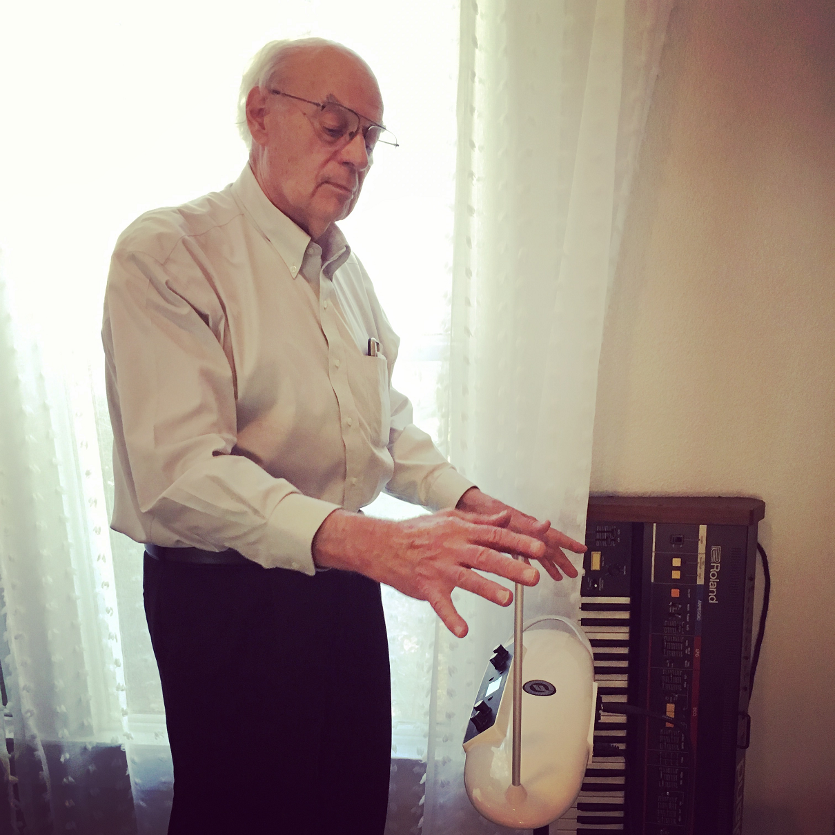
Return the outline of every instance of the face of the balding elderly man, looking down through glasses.
[[[293,56],[272,89],[315,102],[337,102],[382,122],[382,99],[367,67],[347,50],[318,47]],[[253,90],[247,103],[252,163],[267,197],[285,215],[319,238],[335,220],[349,215],[371,167],[360,130],[348,141],[328,144],[312,104]]]

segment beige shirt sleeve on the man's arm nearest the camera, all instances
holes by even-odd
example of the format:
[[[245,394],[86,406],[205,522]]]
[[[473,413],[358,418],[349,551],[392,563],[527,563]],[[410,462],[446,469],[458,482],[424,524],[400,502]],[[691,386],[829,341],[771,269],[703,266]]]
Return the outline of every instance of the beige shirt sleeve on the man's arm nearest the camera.
[[[225,327],[199,271],[184,279],[145,253],[114,255],[103,341],[123,493],[115,504],[132,512],[114,514],[113,527],[139,542],[233,548],[266,567],[314,574],[311,540],[339,505],[237,454]]]

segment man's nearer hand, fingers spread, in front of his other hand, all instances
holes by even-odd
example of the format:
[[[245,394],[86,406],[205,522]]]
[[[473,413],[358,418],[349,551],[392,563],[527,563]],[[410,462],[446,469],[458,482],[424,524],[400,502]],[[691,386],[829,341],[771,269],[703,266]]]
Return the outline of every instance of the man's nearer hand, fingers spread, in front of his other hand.
[[[404,595],[427,600],[448,630],[463,638],[468,627],[453,605],[454,588],[500,606],[514,599],[503,585],[473,569],[524,585],[539,581],[536,569],[507,554],[540,559],[544,543],[507,529],[509,522],[509,511],[483,516],[443,510],[392,522],[335,510],[316,531],[311,550],[321,568],[357,571]]]

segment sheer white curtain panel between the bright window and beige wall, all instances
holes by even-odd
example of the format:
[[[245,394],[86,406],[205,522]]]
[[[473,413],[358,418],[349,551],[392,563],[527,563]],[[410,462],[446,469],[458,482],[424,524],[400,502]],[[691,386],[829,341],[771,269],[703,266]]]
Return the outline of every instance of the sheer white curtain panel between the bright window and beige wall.
[[[488,493],[584,539],[607,290],[671,0],[464,0],[447,437]],[[578,564],[580,561],[578,559]],[[526,616],[576,617],[543,573]],[[423,832],[498,831],[463,791],[463,733],[512,611],[436,630]]]

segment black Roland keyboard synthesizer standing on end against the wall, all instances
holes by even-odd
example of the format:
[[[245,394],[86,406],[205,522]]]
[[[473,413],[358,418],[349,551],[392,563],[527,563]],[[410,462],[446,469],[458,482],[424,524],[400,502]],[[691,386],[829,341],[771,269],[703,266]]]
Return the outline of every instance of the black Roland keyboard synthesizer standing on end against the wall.
[[[757,498],[589,499],[580,625],[600,699],[657,716],[600,715],[552,835],[740,835],[764,516]]]

